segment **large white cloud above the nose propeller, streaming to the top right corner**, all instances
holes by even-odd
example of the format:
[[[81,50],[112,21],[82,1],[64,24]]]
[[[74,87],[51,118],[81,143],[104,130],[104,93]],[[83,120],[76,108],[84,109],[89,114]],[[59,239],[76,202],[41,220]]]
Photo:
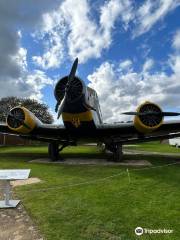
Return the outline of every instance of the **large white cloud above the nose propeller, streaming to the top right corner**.
[[[34,38],[43,42],[44,52],[32,60],[49,69],[58,68],[68,57],[79,57],[81,63],[99,58],[111,46],[115,27],[127,31],[133,22],[133,36],[137,37],[179,4],[179,0],[147,0],[135,9],[131,0],[109,0],[100,5],[99,17],[95,18],[88,0],[64,0],[56,9],[43,14]],[[120,24],[116,25],[117,22]]]

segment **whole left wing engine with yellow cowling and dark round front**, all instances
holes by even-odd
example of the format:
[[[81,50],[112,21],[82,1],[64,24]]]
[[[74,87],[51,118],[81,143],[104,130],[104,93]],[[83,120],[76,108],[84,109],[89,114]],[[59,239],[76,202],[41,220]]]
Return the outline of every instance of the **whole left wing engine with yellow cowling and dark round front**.
[[[32,132],[41,122],[25,107],[15,107],[8,114],[6,123],[11,130],[27,134]]]

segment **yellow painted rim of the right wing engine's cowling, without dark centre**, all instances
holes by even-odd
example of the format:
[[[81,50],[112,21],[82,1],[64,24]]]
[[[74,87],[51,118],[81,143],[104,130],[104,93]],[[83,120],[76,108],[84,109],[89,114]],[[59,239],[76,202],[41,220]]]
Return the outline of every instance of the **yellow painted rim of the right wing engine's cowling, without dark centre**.
[[[150,104],[150,103],[151,103],[151,102],[145,102],[145,103],[141,104],[141,105],[137,108],[137,112],[140,112],[140,108],[141,108],[143,105],[145,105],[145,104]],[[151,104],[154,104],[154,103],[151,103]],[[158,108],[160,108],[157,104],[154,104],[154,105],[156,105]],[[160,108],[160,110],[161,110],[161,108]],[[162,118],[161,122],[160,122],[158,125],[156,125],[156,126],[154,126],[154,127],[149,127],[149,126],[144,125],[144,124],[141,122],[139,116],[135,116],[135,117],[134,117],[134,126],[135,126],[135,128],[136,128],[140,133],[151,133],[151,132],[155,131],[156,129],[158,129],[162,124],[163,124],[163,118]]]

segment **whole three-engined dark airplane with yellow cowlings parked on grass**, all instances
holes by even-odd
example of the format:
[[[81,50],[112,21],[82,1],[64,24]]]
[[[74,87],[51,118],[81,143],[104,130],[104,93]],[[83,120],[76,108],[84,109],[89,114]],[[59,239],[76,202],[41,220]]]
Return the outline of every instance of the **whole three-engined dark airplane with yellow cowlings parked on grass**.
[[[61,78],[54,89],[57,118],[62,116],[64,125],[43,124],[23,106],[10,110],[6,123],[0,124],[0,133],[18,135],[22,138],[48,142],[52,161],[60,159],[59,153],[69,145],[102,143],[113,153],[114,161],[123,157],[122,145],[163,140],[180,136],[180,121],[166,121],[166,116],[179,116],[177,112],[163,112],[152,102],[142,103],[135,112],[123,114],[134,116],[132,122],[103,123],[100,104],[94,89],[76,76],[78,58],[70,74]]]

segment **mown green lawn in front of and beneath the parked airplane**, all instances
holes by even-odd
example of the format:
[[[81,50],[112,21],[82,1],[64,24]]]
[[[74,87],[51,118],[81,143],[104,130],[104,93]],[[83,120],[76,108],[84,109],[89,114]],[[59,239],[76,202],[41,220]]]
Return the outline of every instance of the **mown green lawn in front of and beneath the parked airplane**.
[[[63,155],[104,157],[96,147],[88,146],[67,148]],[[17,187],[15,194],[45,239],[180,239],[179,165],[129,168],[129,183],[125,167],[28,162],[46,156],[46,147],[0,148],[1,169],[30,168],[31,176],[42,180],[39,184]],[[135,158],[147,159],[153,166],[179,160],[165,156]],[[107,178],[110,176],[114,177]],[[137,226],[174,232],[136,237]]]

